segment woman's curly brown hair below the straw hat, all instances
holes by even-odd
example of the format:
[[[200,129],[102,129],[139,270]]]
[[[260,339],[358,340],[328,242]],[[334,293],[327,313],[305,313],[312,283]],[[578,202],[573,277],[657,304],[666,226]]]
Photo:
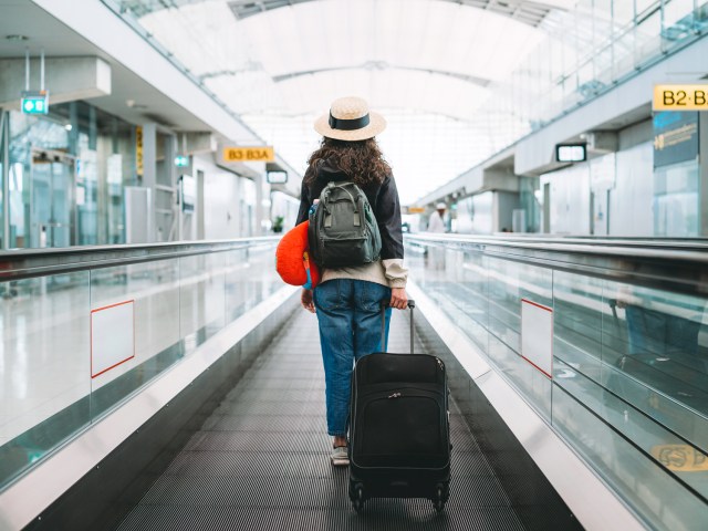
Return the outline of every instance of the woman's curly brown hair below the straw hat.
[[[391,166],[384,159],[376,138],[347,142],[324,136],[320,147],[308,159],[305,183],[315,180],[315,168],[321,160],[329,160],[358,186],[381,184],[391,175]]]

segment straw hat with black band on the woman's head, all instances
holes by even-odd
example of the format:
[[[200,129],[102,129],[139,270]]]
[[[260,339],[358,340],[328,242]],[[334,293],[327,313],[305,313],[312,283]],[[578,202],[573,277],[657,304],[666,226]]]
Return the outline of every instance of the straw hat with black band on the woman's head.
[[[386,121],[368,110],[365,100],[356,96],[341,97],[332,103],[330,113],[320,116],[314,131],[337,140],[365,140],[386,128]]]

